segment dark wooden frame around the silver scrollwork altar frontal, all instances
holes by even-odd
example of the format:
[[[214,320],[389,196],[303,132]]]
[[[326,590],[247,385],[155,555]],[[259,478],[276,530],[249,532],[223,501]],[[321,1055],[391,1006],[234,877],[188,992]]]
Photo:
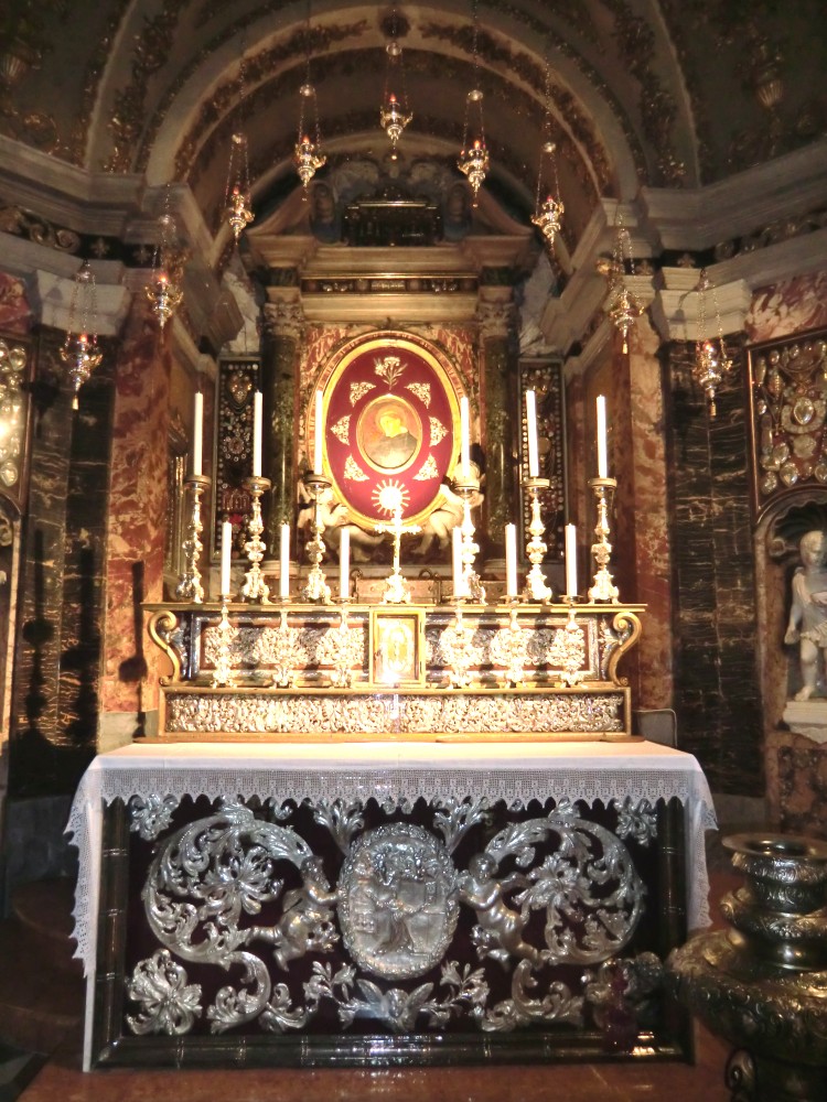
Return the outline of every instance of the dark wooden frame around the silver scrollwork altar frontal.
[[[248,801],[249,803],[250,801]],[[422,801],[417,801],[417,807]],[[197,801],[205,803],[204,798]],[[208,801],[206,801],[208,806]],[[552,804],[548,801],[546,806]],[[264,811],[264,801],[251,804]],[[368,801],[368,807],[370,801]],[[544,807],[546,807],[544,806]],[[595,823],[606,821],[608,810],[600,801],[591,808],[578,801],[584,818]],[[302,804],[297,807],[297,813]],[[376,809],[378,806],[374,804]],[[515,812],[497,812],[496,824],[514,821]],[[524,815],[537,813],[534,802]],[[203,814],[203,807],[201,814]],[[379,814],[380,811],[374,811]],[[657,803],[658,840],[655,852],[645,854],[647,867],[641,875],[648,877],[647,892],[654,898],[654,910],[646,914],[646,944],[627,949],[630,954],[651,950],[665,961],[668,953],[684,943],[686,921],[686,846],[685,811],[673,797]],[[399,811],[399,814],[405,814]],[[407,812],[408,818],[415,811]],[[471,1063],[561,1063],[610,1060],[683,1060],[691,1061],[692,1026],[690,1015],[666,992],[658,995],[651,1024],[638,1033],[630,1051],[611,1052],[601,1031],[592,1024],[577,1027],[566,1024],[529,1026],[508,1033],[469,1030],[402,1033],[225,1033],[210,1034],[206,1023],[197,1035],[135,1036],[125,1025],[128,1011],[127,976],[129,963],[147,936],[140,931],[141,877],[146,875],[157,843],[141,841],[130,832],[127,808],[120,799],[103,812],[103,839],[97,936],[97,966],[94,984],[90,1066],[108,1067],[399,1067]],[[311,812],[304,812],[304,829]],[[183,822],[197,818],[193,801]],[[393,815],[391,815],[393,819]],[[174,827],[170,830],[173,833]],[[610,828],[611,829],[611,828]],[[335,847],[333,847],[335,850]],[[634,847],[633,847],[634,849]],[[636,857],[642,851],[636,851]],[[137,856],[136,856],[137,855]],[[339,855],[341,858],[341,854]],[[335,860],[335,855],[334,858]],[[142,864],[141,864],[142,863]],[[142,872],[143,869],[143,872]],[[146,925],[146,918],[144,918]],[[130,948],[138,939],[140,949]],[[469,947],[470,951],[470,947]],[[475,958],[474,958],[475,959]],[[174,957],[173,957],[174,960]],[[189,965],[187,965],[189,966]],[[335,970],[334,964],[334,970]],[[492,965],[493,966],[493,965]],[[277,973],[281,979],[284,973]],[[226,980],[226,976],[225,976]],[[407,988],[421,983],[422,977],[402,981]],[[222,981],[224,982],[224,981]],[[387,981],[377,981],[389,986]],[[398,988],[399,984],[396,983]]]

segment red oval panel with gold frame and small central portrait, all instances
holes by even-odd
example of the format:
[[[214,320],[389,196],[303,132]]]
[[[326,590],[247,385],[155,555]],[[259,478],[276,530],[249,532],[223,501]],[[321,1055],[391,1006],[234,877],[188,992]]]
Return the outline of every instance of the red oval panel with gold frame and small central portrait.
[[[336,498],[367,530],[387,522],[388,487],[416,525],[441,504],[459,453],[459,398],[448,357],[397,333],[359,337],[322,375],[324,466]],[[311,403],[312,406],[313,403]],[[308,440],[315,426],[308,423]]]

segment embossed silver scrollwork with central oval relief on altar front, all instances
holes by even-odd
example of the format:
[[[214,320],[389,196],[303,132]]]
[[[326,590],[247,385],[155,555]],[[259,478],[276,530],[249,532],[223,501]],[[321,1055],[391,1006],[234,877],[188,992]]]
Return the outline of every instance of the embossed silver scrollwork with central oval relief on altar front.
[[[127,977],[133,1034],[182,1036],[201,1019],[213,1034],[248,1023],[286,1033],[324,1003],[345,1029],[357,1017],[393,1034],[466,1017],[507,1031],[581,1025],[588,1004],[604,998],[600,965],[629,946],[643,912],[624,840],[648,846],[656,836],[647,801],[615,801],[616,833],[560,801],[509,822],[482,849],[470,843],[485,836],[485,800],[433,800],[427,825],[400,821],[411,814],[404,800],[386,801],[380,811],[393,821],[374,827],[359,801],[309,807],[343,857],[336,877],[335,851],[322,857],[297,833],[290,801],[260,811],[218,801],[172,833],[174,800],[130,801],[131,830],[155,844],[142,899],[160,947]],[[470,856],[458,864],[463,849]],[[462,908],[480,966],[457,959]],[[207,998],[180,962],[227,982]],[[580,990],[551,972],[559,964],[579,968]],[[492,996],[492,966],[509,976],[508,997]],[[386,983],[419,976],[428,979],[412,987]]]

